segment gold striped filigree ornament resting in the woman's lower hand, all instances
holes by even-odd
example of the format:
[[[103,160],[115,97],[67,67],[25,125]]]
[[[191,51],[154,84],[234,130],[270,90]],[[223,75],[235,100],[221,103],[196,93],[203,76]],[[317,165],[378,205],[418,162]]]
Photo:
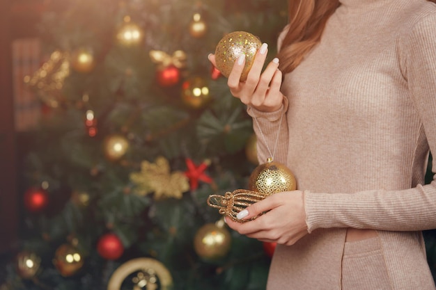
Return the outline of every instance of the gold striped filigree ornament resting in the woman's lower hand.
[[[240,220],[236,215],[251,204],[259,202],[264,198],[266,198],[266,195],[263,193],[248,191],[247,189],[236,189],[232,192],[226,192],[224,196],[209,195],[207,202],[209,207],[218,209],[219,214],[228,216],[235,222],[244,223],[248,220]],[[251,220],[254,220],[254,218],[251,218]]]

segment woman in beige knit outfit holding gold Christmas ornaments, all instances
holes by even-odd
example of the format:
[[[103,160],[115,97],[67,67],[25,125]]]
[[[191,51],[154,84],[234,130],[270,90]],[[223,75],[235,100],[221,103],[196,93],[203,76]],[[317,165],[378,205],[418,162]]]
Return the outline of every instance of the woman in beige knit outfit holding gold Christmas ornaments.
[[[235,63],[228,86],[256,121],[260,162],[273,152],[297,179],[238,218],[266,214],[226,219],[279,244],[267,289],[435,289],[421,234],[436,228],[436,180],[423,185],[436,153],[432,2],[290,0],[277,58],[262,72],[263,45],[245,82],[244,56]]]

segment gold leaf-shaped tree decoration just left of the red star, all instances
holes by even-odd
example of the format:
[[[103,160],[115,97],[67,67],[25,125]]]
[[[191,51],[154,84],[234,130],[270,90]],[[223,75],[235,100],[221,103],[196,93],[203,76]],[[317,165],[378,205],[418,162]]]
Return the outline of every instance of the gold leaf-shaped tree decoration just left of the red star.
[[[171,172],[169,161],[163,156],[157,157],[155,163],[142,161],[141,172],[132,172],[130,180],[136,184],[138,195],[155,193],[155,200],[163,198],[182,198],[182,193],[189,190],[188,178],[184,172]]]

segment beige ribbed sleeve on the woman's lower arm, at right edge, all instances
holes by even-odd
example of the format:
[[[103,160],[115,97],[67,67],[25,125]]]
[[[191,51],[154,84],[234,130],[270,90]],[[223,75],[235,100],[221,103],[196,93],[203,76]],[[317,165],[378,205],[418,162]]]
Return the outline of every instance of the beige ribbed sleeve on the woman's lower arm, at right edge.
[[[436,156],[436,14],[421,17],[403,39],[403,74],[412,103]],[[357,193],[305,193],[309,232],[322,227],[355,227],[392,231],[436,228],[436,162],[433,182],[414,188]]]

